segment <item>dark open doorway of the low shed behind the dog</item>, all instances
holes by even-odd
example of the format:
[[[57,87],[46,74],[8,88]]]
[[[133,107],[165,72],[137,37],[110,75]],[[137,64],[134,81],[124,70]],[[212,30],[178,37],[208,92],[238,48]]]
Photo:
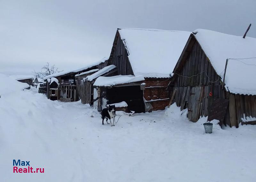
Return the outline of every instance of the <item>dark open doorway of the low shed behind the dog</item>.
[[[140,86],[122,86],[107,89],[107,104],[125,101],[130,111],[135,113],[145,112],[143,91]]]

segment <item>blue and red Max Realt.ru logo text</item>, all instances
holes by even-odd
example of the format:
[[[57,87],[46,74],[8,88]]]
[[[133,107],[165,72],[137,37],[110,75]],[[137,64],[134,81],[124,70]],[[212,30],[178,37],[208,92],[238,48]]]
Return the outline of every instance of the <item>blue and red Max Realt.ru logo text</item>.
[[[13,159],[13,173],[44,173],[44,168],[33,168],[30,166],[30,161],[20,161]],[[26,166],[26,167],[17,167]]]

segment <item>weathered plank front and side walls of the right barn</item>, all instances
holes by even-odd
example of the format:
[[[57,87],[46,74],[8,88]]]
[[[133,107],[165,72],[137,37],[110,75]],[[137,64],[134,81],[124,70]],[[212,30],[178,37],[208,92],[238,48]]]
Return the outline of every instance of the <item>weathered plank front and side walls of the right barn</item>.
[[[212,101],[217,98],[229,99],[225,125],[238,127],[244,114],[256,117],[256,96],[231,94],[223,90],[219,76],[197,41],[183,67],[176,73],[188,77],[196,75],[191,78],[174,75],[173,90],[176,94],[172,103],[176,102],[181,109],[188,108],[190,121],[196,122],[200,116],[207,116]]]

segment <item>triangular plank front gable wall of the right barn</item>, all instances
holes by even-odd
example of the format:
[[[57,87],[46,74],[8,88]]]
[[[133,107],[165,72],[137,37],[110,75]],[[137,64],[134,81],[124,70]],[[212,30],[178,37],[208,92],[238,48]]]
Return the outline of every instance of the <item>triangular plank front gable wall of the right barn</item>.
[[[188,108],[190,121],[196,122],[200,116],[207,116],[213,99],[225,98],[219,75],[197,41],[177,74],[174,75],[173,90],[176,94],[172,103],[176,102],[181,110]]]

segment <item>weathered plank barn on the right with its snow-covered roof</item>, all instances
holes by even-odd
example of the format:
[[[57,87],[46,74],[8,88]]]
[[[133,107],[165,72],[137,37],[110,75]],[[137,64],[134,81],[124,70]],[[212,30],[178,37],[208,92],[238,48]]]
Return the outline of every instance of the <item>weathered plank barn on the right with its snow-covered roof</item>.
[[[172,103],[188,118],[239,126],[256,117],[256,39],[198,29],[173,70]],[[226,67],[226,68],[225,68]]]

